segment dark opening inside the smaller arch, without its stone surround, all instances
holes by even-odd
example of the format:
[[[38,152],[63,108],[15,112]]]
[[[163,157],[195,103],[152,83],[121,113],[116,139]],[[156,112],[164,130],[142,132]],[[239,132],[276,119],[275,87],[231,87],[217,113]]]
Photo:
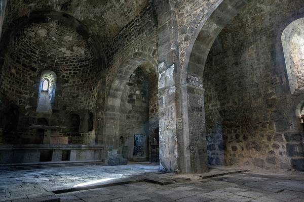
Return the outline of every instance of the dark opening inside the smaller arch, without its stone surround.
[[[157,76],[150,70],[147,64],[137,67],[121,96],[119,134],[128,150],[124,156],[132,161],[148,159],[149,135],[158,126]]]

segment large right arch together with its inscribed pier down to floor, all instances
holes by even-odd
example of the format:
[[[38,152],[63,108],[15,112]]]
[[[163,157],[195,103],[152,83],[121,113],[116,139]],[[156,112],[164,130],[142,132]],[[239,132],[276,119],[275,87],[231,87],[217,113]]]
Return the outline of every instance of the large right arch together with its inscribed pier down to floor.
[[[249,1],[243,0],[218,0],[214,1],[211,8],[198,24],[192,40],[185,52],[185,59],[180,75],[181,97],[183,103],[192,103],[192,106],[184,104],[181,106],[183,120],[183,141],[188,148],[182,149],[183,156],[189,157],[180,166],[182,172],[205,172],[207,166],[206,141],[193,141],[193,137],[201,138],[206,134],[205,109],[203,89],[203,72],[205,63],[214,43],[221,30],[237,16]],[[186,86],[186,87],[184,87]],[[194,102],[194,100],[199,100]],[[186,112],[186,113],[184,113]],[[199,115],[195,116],[196,112]],[[192,125],[192,127],[189,127]],[[202,135],[203,134],[203,135]],[[198,161],[199,159],[199,161]]]

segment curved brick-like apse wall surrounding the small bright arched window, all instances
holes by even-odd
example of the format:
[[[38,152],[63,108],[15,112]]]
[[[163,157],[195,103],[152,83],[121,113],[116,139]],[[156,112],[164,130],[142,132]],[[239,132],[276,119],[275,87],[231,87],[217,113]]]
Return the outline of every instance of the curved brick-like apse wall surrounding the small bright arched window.
[[[70,112],[79,115],[83,110],[93,112],[99,67],[83,36],[58,21],[32,23],[13,32],[12,36],[0,60],[1,116],[5,118],[12,105],[18,106],[20,112],[18,131],[6,135],[8,142],[14,143],[17,138],[23,143],[41,143],[41,134],[28,129],[37,124],[39,118],[45,118],[49,125],[65,126]],[[45,70],[57,76],[53,115],[36,113],[41,74]],[[60,119],[54,121],[52,117],[57,117],[56,114]],[[1,127],[4,125],[3,119]],[[81,128],[81,131],[88,129]]]

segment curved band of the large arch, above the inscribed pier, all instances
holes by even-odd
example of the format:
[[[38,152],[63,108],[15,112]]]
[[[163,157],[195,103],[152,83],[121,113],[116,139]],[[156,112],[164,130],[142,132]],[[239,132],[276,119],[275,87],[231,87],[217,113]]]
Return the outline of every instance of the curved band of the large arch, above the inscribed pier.
[[[194,37],[186,50],[182,84],[191,83],[189,76],[202,80],[205,62],[210,48],[221,30],[240,12],[249,1],[218,0],[199,23]],[[202,87],[202,85],[197,85]]]

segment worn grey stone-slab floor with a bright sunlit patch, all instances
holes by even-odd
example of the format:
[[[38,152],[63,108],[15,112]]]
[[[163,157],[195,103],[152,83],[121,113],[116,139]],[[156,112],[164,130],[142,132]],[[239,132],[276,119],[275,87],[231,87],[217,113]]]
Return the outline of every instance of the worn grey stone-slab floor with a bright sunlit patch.
[[[222,172],[225,169],[217,170]],[[304,202],[304,173],[206,175],[158,173],[158,166],[77,166],[0,172],[0,201],[293,201]],[[145,177],[180,179],[168,185],[137,182],[55,194],[52,191]],[[191,181],[188,181],[191,179]],[[172,181],[172,180],[171,180]],[[172,181],[173,182],[173,181]],[[59,201],[59,200],[58,200]]]

